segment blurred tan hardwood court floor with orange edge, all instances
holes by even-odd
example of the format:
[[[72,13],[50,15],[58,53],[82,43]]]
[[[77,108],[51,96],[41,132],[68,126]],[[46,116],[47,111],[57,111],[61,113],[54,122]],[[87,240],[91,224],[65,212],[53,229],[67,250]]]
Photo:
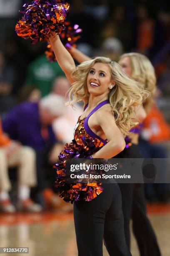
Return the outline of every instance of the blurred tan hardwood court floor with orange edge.
[[[169,256],[170,205],[148,206],[148,212],[162,255]],[[0,247],[16,246],[29,247],[29,256],[77,256],[72,213],[0,214]],[[139,256],[133,235],[131,252]],[[103,256],[108,256],[105,246]]]

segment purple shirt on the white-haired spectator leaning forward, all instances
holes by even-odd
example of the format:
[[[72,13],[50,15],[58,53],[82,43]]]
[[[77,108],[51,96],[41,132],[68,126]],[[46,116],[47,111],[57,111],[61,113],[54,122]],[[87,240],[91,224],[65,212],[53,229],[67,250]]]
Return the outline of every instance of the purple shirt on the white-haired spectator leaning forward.
[[[48,138],[42,137],[38,103],[24,102],[13,108],[2,121],[2,128],[11,139],[37,151],[56,142],[51,125],[47,127]]]

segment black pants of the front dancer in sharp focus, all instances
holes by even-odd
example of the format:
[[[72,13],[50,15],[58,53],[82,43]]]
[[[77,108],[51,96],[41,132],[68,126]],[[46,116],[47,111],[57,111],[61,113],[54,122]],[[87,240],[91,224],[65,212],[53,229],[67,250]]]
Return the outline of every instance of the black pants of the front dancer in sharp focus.
[[[102,256],[103,238],[110,256],[130,256],[126,245],[122,200],[117,184],[103,184],[90,202],[74,202],[78,256]]]

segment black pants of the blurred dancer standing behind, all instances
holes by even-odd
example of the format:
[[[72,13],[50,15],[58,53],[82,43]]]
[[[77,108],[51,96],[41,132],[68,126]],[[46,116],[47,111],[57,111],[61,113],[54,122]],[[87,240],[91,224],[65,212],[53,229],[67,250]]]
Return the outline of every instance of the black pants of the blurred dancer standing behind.
[[[115,156],[122,158],[123,152]],[[124,157],[141,158],[138,145],[133,144],[129,149],[129,154]],[[138,171],[138,170],[137,170]],[[133,220],[133,232],[138,243],[141,256],[160,256],[158,242],[147,217],[146,202],[143,184],[119,184],[122,194],[122,210],[124,215],[125,238],[128,248],[130,248],[130,217]]]

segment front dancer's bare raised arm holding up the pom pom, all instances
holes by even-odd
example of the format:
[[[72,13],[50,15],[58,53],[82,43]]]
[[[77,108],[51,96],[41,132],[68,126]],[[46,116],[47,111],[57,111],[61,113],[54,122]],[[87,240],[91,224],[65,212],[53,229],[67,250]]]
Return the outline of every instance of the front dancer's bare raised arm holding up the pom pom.
[[[72,69],[75,68],[74,60],[72,59],[72,56],[67,51],[67,49],[63,46],[62,42],[60,41],[60,37],[53,33],[52,36],[50,36],[50,43],[52,46],[52,49],[55,53],[55,58],[57,59],[58,64],[60,65],[61,69],[65,73],[68,81],[70,84],[75,82],[72,77]]]

